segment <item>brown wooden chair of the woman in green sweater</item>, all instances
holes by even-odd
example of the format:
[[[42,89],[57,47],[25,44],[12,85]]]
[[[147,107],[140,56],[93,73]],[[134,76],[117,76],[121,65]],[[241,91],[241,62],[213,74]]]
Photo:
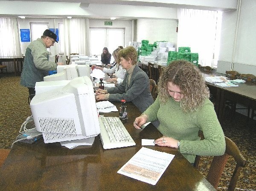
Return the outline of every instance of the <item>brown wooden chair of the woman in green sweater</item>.
[[[245,167],[247,161],[244,159],[244,156],[241,154],[239,148],[236,144],[229,138],[225,136],[226,141],[226,151],[222,156],[214,156],[212,163],[210,165],[206,179],[211,183],[211,185],[216,189],[218,187],[218,182],[221,178],[221,174],[224,171],[225,164],[229,156],[232,156],[236,161],[236,168],[233,171],[229,186],[227,191],[234,191],[236,187],[236,182],[239,178],[239,174],[242,167]],[[200,156],[196,156],[194,167],[198,168],[198,160]]]

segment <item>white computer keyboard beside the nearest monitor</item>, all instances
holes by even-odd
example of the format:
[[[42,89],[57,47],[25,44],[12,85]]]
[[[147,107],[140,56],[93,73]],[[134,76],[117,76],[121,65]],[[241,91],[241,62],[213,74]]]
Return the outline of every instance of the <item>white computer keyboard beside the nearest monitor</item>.
[[[99,117],[99,126],[104,149],[136,145],[118,117]]]

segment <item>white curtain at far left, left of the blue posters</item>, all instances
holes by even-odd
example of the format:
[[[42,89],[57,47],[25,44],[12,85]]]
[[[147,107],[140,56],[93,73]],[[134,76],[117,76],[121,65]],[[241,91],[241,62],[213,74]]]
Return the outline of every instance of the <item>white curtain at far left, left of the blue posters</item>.
[[[0,18],[0,56],[21,56],[17,18]]]

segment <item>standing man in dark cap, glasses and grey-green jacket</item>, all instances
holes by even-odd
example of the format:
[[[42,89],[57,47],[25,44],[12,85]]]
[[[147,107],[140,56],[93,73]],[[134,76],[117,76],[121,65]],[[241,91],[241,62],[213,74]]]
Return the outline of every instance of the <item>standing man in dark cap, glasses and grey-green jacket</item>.
[[[44,81],[44,76],[48,75],[48,71],[55,70],[57,65],[63,65],[62,62],[49,61],[47,48],[53,46],[57,42],[56,39],[57,35],[46,29],[41,38],[33,41],[26,48],[20,84],[29,89],[30,98],[35,95],[35,83]]]

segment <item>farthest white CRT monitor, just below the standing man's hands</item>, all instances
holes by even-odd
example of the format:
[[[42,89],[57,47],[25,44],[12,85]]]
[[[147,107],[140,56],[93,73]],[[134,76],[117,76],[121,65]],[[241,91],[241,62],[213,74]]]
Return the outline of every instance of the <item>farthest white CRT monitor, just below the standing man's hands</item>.
[[[70,64],[57,66],[57,74],[45,76],[44,81],[72,80],[81,76],[90,78],[89,65]]]

